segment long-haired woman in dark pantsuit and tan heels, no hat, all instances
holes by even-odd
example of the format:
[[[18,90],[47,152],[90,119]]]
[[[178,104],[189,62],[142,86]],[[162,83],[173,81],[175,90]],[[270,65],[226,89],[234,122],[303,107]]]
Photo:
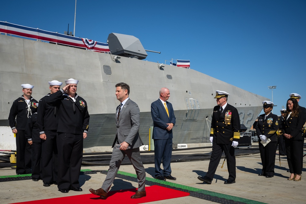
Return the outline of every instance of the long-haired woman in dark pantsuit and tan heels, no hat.
[[[285,146],[287,153],[287,161],[290,170],[288,180],[300,181],[302,173],[301,159],[303,152],[301,149],[304,145],[302,137],[304,116],[300,111],[299,104],[295,98],[289,98],[287,101],[287,116],[283,121],[283,129],[285,133]]]

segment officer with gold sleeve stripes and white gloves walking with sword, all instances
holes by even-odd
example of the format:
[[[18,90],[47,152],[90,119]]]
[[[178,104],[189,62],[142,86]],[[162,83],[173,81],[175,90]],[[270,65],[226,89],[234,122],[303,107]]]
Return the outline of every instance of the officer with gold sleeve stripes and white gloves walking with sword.
[[[211,159],[206,176],[199,176],[200,181],[211,184],[220,162],[222,152],[226,155],[228,179],[224,184],[233,184],[236,179],[236,158],[234,147],[240,139],[240,119],[237,109],[227,103],[230,94],[225,91],[216,91],[217,106],[214,107],[211,120],[210,141],[212,142]]]

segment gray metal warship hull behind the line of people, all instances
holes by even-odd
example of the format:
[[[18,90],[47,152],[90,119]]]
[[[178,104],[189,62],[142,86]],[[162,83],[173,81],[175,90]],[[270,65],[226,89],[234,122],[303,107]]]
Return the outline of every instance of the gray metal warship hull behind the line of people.
[[[0,126],[9,126],[12,102],[20,95],[20,84],[32,84],[32,96],[39,100],[49,91],[48,81],[80,80],[77,93],[88,103],[90,124],[84,148],[110,146],[116,130],[115,84],[130,85],[129,97],[140,108],[140,137],[149,143],[153,125],[151,103],[159,90],[170,90],[176,124],[173,142],[209,142],[211,114],[216,90],[230,93],[228,103],[238,109],[240,122],[251,127],[260,111],[262,96],[245,91],[196,70],[148,62],[129,57],[113,59],[109,53],[92,52],[43,41],[0,35]]]

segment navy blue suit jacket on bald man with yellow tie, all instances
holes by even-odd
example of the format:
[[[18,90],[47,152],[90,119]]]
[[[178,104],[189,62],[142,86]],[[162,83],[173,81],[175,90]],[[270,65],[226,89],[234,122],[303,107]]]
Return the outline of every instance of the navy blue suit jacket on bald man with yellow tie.
[[[169,112],[169,117],[166,112],[164,104],[162,104],[161,100],[151,104],[151,116],[153,119],[153,139],[172,139],[173,134],[172,130],[167,131],[167,123],[173,123],[175,125],[175,116],[172,104],[166,101],[166,105]]]

